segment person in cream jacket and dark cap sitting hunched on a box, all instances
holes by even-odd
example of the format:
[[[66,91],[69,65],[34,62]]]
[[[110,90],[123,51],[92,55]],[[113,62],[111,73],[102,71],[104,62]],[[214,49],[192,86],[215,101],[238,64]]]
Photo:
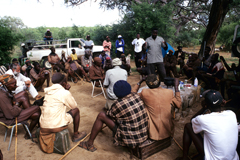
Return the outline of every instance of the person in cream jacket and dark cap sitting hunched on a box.
[[[45,88],[45,98],[41,107],[40,132],[42,129],[49,132],[64,129],[73,122],[74,135],[72,141],[77,142],[86,136],[85,132],[78,132],[80,113],[75,99],[68,91],[71,86],[67,78],[61,73],[52,76],[51,87]],[[71,110],[66,113],[66,107]],[[59,132],[59,131],[58,131]]]

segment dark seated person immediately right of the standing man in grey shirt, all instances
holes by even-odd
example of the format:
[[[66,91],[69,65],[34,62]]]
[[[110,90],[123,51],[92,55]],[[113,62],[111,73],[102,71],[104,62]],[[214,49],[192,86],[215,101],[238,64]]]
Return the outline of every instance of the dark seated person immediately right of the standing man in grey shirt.
[[[178,77],[177,75],[177,58],[173,55],[173,51],[169,50],[169,53],[164,57],[164,66],[166,69],[166,76],[170,76],[170,71],[172,71],[174,77]]]

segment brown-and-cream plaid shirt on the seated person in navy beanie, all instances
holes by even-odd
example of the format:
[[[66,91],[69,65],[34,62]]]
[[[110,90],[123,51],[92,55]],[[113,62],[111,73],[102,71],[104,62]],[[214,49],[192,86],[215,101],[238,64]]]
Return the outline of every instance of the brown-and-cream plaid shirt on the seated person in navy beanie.
[[[115,145],[135,148],[148,138],[148,115],[137,93],[116,100],[107,115],[117,125]]]

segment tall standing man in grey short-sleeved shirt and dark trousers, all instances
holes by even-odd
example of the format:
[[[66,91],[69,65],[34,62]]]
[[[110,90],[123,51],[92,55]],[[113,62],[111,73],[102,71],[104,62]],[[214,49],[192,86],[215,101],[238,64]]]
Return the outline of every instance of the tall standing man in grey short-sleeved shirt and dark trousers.
[[[162,47],[167,50],[168,45],[164,41],[162,37],[157,36],[158,30],[152,30],[152,36],[146,39],[147,44],[147,67],[148,74],[155,74],[155,70],[157,68],[157,72],[159,77],[163,81],[166,77],[166,71],[163,63],[163,55],[162,55]]]

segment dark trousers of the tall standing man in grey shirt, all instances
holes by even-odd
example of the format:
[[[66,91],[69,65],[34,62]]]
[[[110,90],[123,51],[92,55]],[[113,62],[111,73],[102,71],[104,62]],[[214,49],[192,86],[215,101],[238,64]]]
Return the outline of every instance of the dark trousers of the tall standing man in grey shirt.
[[[164,81],[164,78],[166,77],[166,70],[165,70],[163,62],[149,63],[149,64],[147,64],[147,67],[148,67],[148,74],[156,74],[155,70],[157,68],[157,73],[159,75],[159,79],[162,82]]]

